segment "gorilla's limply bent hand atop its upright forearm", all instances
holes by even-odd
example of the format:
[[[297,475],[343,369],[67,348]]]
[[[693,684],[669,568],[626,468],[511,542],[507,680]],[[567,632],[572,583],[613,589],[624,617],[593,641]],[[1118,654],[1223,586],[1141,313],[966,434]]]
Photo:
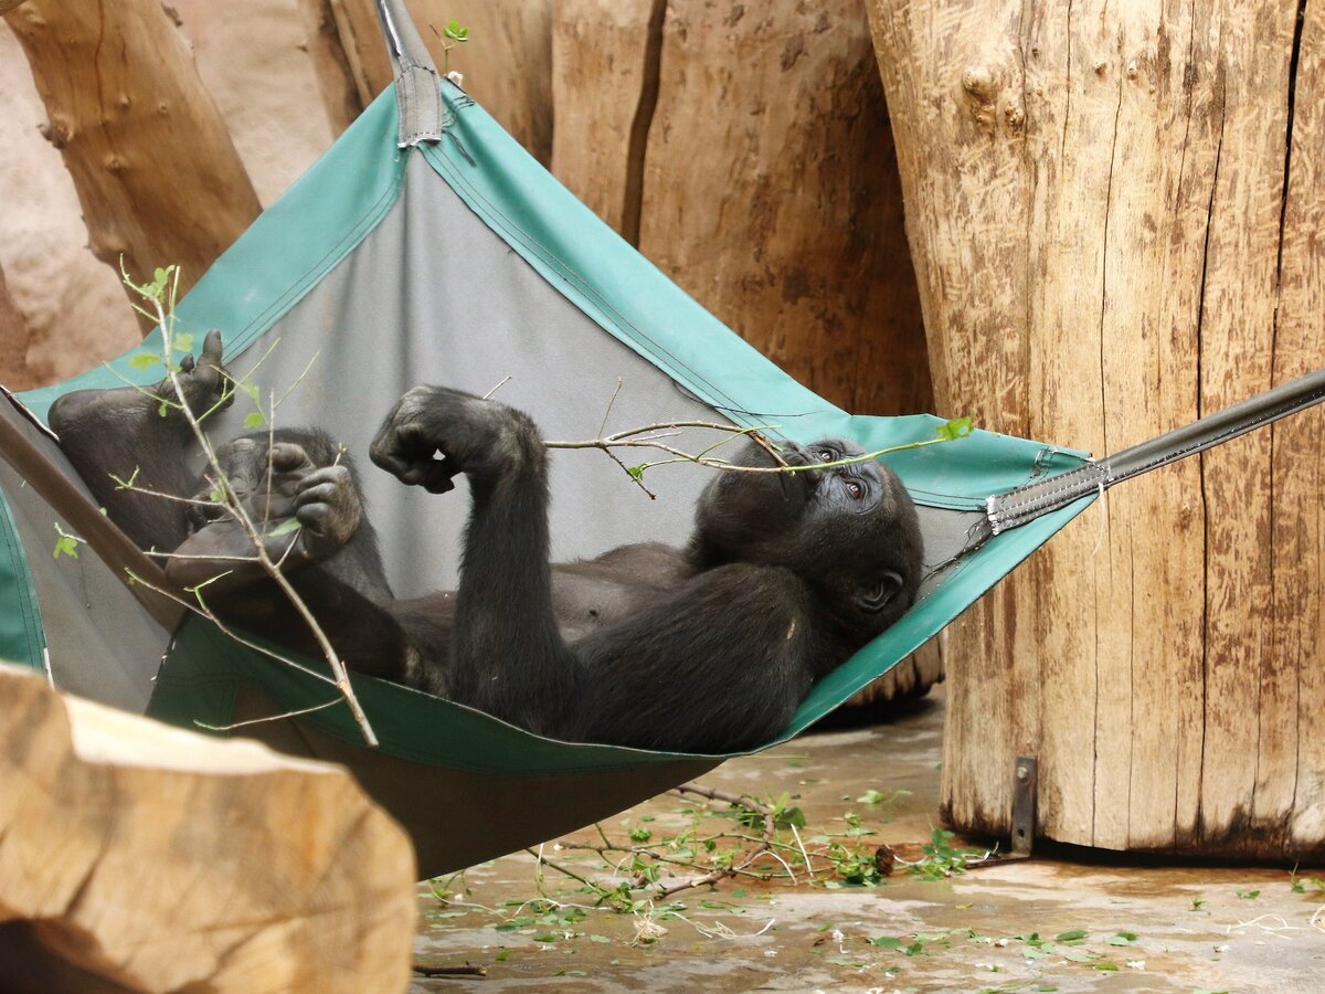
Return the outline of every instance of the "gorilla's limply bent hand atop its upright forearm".
[[[527,415],[449,387],[415,387],[400,398],[370,456],[401,482],[429,493],[450,490],[456,473],[493,482],[522,467],[541,469],[545,459]]]

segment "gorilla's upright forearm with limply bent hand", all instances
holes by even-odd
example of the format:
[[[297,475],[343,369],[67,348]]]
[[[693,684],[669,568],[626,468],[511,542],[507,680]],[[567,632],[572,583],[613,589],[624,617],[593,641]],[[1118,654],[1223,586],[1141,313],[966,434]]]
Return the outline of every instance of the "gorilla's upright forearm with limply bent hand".
[[[437,453],[441,459],[437,459]],[[456,594],[449,693],[556,734],[578,698],[578,663],[553,612],[547,459],[527,415],[445,387],[405,394],[372,441],[372,461],[432,493],[469,477],[473,508]]]

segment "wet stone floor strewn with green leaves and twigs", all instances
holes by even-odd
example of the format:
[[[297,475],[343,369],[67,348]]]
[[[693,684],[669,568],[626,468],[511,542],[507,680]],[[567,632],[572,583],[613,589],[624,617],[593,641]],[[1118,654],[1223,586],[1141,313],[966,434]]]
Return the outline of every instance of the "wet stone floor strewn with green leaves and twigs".
[[[949,875],[986,847],[934,836],[941,736],[938,693],[886,725],[714,770],[704,787],[780,802],[784,826],[716,887],[660,893],[714,859],[742,865],[768,836],[721,799],[674,794],[549,843],[558,868],[517,854],[436,883],[443,899],[420,893],[416,961],[484,975],[411,990],[1325,991],[1320,868],[1072,851]],[[881,846],[890,873],[849,883],[889,869]],[[598,900],[608,891],[624,909]]]

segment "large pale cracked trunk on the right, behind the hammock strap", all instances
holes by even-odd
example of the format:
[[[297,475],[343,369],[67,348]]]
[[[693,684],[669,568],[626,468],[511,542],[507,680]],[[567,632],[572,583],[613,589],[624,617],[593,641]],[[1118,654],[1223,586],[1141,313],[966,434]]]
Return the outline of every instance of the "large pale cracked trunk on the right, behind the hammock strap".
[[[1102,455],[1325,364],[1320,5],[868,8],[941,410]],[[955,824],[1030,753],[1063,842],[1325,850],[1322,427],[1110,492],[953,626]]]

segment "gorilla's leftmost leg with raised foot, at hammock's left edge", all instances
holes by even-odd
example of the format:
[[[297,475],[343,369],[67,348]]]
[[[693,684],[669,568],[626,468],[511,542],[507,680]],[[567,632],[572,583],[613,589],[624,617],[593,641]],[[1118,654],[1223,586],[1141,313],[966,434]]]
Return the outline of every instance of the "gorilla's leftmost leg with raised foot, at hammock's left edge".
[[[195,414],[229,403],[221,337],[209,331],[203,353],[180,363],[184,398]],[[170,380],[151,388],[78,390],[50,407],[50,427],[74,469],[111,521],[142,549],[174,549],[188,534],[186,504],[142,490],[183,497],[196,477],[187,453],[196,448]],[[111,477],[132,478],[125,489]]]

